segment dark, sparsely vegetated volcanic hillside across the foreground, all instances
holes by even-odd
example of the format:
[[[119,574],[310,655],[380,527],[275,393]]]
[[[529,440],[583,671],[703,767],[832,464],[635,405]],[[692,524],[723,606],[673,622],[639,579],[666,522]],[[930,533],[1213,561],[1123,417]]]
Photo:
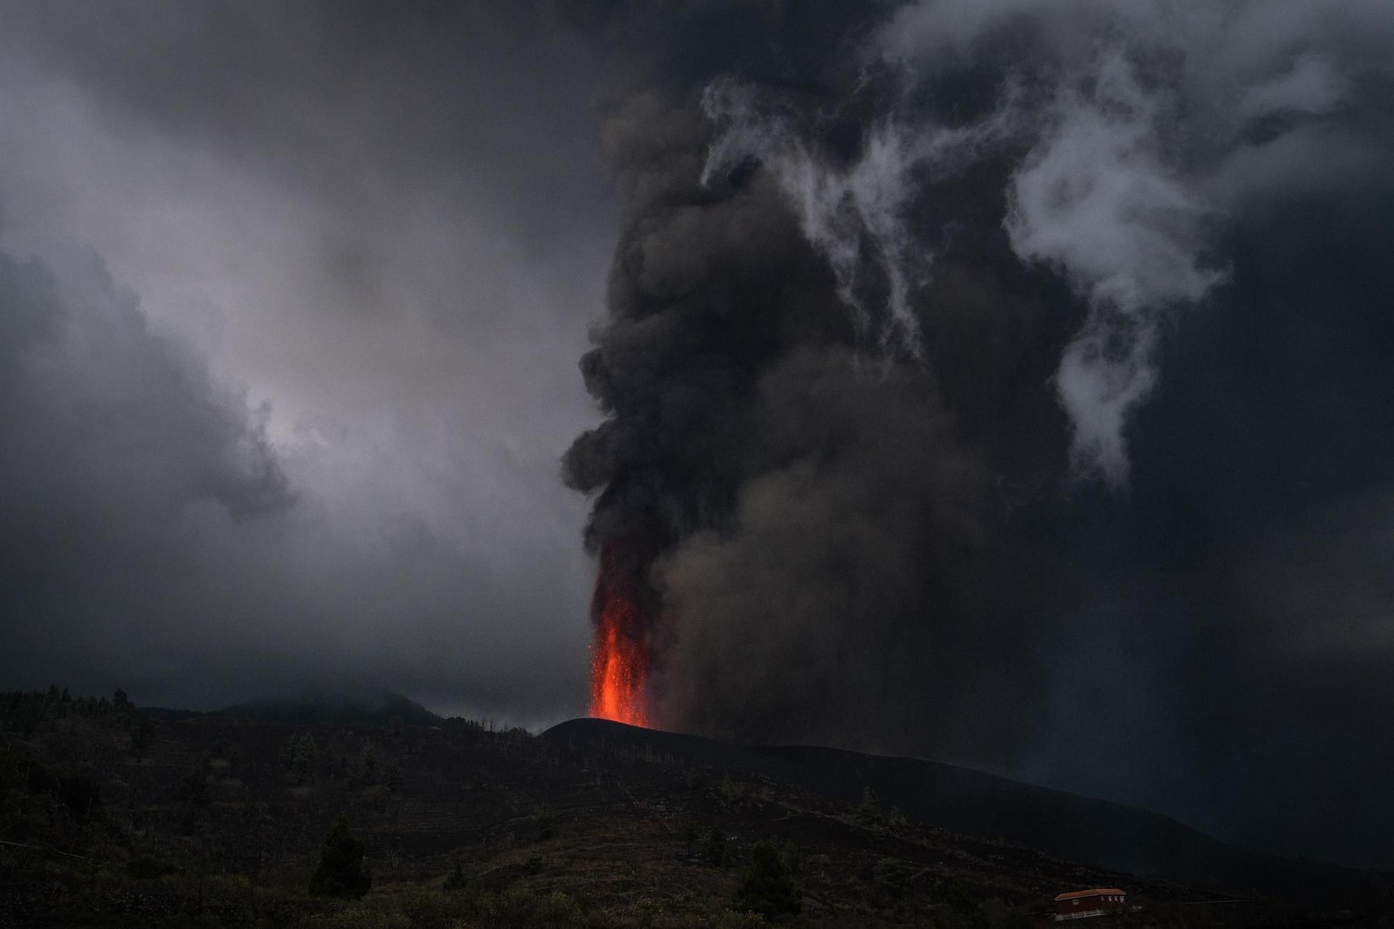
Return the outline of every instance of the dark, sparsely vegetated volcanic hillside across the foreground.
[[[894,777],[878,773],[938,777],[921,762],[595,720],[533,737],[464,720],[294,724],[29,697],[0,700],[0,926],[758,925],[732,909],[750,904],[740,887],[761,840],[789,866],[800,914],[782,919],[800,925],[1030,925],[1055,893],[1096,886],[1126,889],[1142,909],[1121,919],[1139,925],[1390,912],[1359,875],[1345,873],[1351,896],[1294,904],[949,830],[910,815],[909,794],[892,799]],[[973,799],[927,783],[958,790],[969,812],[997,790]],[[881,803],[863,799],[867,785]],[[365,844],[372,890],[360,901],[307,893],[337,815]],[[1111,815],[1131,813],[1100,806],[1096,822]]]

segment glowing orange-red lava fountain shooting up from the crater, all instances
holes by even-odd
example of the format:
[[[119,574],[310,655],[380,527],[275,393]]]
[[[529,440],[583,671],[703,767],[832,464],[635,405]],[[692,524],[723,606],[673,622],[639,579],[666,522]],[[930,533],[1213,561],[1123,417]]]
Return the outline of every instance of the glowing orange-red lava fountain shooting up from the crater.
[[[637,587],[615,545],[601,551],[591,643],[591,716],[648,725],[648,642]]]

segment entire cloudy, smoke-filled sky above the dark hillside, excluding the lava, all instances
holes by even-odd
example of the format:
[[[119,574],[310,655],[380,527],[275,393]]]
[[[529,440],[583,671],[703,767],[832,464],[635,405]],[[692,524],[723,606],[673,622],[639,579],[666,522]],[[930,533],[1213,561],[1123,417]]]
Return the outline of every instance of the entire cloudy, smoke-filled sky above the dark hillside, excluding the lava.
[[[662,724],[1394,868],[1391,52],[1337,1],[0,1],[0,674],[541,725],[585,531]]]

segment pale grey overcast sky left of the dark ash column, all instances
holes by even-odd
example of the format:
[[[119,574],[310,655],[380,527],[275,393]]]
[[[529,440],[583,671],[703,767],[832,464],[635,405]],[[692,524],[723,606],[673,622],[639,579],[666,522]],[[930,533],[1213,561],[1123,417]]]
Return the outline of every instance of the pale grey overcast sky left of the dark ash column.
[[[50,357],[6,428],[35,469],[8,492],[54,524],[4,543],[63,583],[7,582],[6,675],[209,706],[351,672],[447,710],[583,709],[585,501],[558,460],[595,420],[576,360],[613,240],[595,50],[526,4],[0,18],[0,250],[11,299],[66,318],[7,349]],[[149,395],[188,428],[137,432]],[[230,487],[201,485],[215,467]],[[282,498],[208,505],[262,492],[258,467]]]

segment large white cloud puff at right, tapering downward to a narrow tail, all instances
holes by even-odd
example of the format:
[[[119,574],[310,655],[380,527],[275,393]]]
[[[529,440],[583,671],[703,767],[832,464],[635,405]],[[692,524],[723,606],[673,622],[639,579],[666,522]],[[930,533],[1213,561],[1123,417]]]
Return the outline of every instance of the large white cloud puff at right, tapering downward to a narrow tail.
[[[1059,268],[1090,303],[1057,386],[1080,473],[1128,478],[1128,411],[1157,381],[1151,360],[1168,308],[1200,300],[1221,273],[1200,261],[1204,201],[1163,163],[1163,103],[1121,54],[1089,92],[1062,89],[1012,176],[1006,230],[1025,261]]]

